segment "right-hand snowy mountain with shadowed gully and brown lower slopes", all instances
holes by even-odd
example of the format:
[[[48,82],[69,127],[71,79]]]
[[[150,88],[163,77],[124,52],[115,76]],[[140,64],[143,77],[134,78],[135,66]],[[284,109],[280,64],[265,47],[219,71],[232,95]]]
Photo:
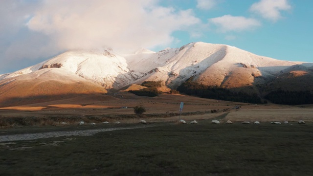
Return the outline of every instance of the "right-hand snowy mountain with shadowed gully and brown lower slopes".
[[[131,70],[144,74],[136,82],[162,80],[170,88],[177,88],[191,76],[207,86],[218,86],[258,93],[266,83],[279,78],[282,70],[312,63],[280,61],[257,56],[239,48],[223,44],[191,43],[146,55],[126,56]],[[135,60],[136,59],[136,60]],[[145,70],[144,70],[145,69]],[[311,73],[309,71],[309,73]],[[309,74],[308,73],[308,74]],[[249,87],[249,88],[246,88]]]

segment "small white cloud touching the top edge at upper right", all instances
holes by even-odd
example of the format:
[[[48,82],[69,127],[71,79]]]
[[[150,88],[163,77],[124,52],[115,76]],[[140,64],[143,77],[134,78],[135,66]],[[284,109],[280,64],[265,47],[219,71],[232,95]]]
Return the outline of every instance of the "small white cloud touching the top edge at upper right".
[[[276,22],[281,17],[281,11],[291,9],[287,0],[260,0],[252,4],[251,12],[261,15],[263,18]]]

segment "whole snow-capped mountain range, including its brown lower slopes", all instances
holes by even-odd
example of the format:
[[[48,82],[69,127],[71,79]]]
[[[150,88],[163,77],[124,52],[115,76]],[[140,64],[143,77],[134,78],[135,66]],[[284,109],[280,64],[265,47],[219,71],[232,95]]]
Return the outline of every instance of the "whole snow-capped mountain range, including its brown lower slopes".
[[[131,54],[119,54],[110,48],[67,51],[35,66],[0,75],[0,95],[13,95],[12,91],[23,95],[22,88],[17,89],[20,83],[24,84],[24,89],[35,91],[38,85],[49,88],[52,81],[85,85],[76,88],[77,92],[85,92],[86,85],[90,92],[105,92],[104,89],[120,89],[147,80],[161,80],[167,87],[177,88],[191,76],[204,85],[245,89],[258,94],[261,87],[265,90],[265,87],[271,89],[271,84],[277,88],[284,86],[279,78],[285,80],[289,76],[297,80],[306,76],[301,84],[313,89],[313,63],[281,61],[229,45],[198,42],[159,52],[139,49]],[[310,82],[306,82],[308,79]],[[290,83],[285,81],[284,84]],[[286,87],[299,88],[296,85]],[[51,93],[54,90],[52,88]],[[65,90],[58,93],[62,92],[68,93]],[[31,94],[29,92],[29,96]]]

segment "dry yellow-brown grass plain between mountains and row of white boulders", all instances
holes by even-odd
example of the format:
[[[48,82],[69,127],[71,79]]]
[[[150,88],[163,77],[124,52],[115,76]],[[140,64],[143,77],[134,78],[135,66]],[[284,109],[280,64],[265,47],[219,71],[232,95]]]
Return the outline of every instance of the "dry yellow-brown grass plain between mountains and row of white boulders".
[[[179,105],[184,102],[181,119],[191,121],[195,119],[212,119],[224,113],[210,113],[211,110],[228,110],[228,114],[222,119],[233,122],[241,121],[313,121],[313,106],[287,105],[254,105],[238,102],[227,102],[212,99],[203,99],[192,96],[162,94],[156,97],[140,97],[128,92],[118,92],[114,96],[103,94],[84,94],[70,98],[47,101],[44,103],[33,103],[23,106],[12,106],[0,108],[0,118],[43,118],[43,125],[60,125],[61,121],[52,122],[49,117],[62,117],[67,119],[68,124],[77,124],[79,120],[88,120],[87,117],[97,118],[96,121],[122,123],[138,123],[142,117],[134,115],[134,106],[142,105],[146,108],[147,122],[177,121],[179,119]],[[241,106],[240,110],[231,110],[235,106]],[[127,109],[121,107],[128,107]],[[110,116],[109,119],[106,119]],[[116,118],[116,119],[114,119]],[[56,119],[54,119],[56,120]],[[90,121],[93,122],[93,121]],[[37,125],[41,125],[38,124]]]

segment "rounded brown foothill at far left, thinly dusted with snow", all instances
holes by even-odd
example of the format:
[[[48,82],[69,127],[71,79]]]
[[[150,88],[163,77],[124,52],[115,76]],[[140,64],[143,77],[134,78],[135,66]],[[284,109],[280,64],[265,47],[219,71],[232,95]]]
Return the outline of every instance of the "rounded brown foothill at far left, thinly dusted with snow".
[[[23,105],[107,90],[64,69],[41,69],[0,81],[0,106]]]

